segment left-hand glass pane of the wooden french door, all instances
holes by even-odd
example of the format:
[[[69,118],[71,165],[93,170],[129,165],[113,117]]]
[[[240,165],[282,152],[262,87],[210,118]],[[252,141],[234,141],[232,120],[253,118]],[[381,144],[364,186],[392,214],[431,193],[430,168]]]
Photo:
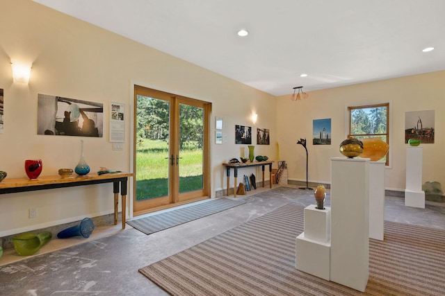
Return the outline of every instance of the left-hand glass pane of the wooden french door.
[[[170,103],[137,96],[136,200],[168,195]]]

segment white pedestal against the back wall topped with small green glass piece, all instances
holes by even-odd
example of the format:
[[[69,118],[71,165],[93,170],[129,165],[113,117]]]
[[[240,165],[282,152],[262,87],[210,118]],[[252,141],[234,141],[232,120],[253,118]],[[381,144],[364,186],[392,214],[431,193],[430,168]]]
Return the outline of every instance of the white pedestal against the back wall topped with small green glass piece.
[[[405,206],[425,209],[425,192],[422,191],[422,147],[406,148]]]

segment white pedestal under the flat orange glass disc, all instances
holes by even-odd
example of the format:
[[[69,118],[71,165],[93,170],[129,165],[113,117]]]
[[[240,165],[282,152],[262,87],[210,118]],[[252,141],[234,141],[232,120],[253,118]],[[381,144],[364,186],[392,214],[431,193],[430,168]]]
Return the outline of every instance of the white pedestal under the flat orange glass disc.
[[[369,238],[385,234],[385,162],[369,162]]]

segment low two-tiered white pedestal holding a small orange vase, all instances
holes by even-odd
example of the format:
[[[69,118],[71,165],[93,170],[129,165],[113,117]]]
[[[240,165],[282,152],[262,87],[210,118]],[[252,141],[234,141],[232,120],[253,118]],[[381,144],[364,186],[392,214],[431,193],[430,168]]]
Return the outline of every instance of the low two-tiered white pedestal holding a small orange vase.
[[[329,281],[331,209],[305,207],[305,232],[296,238],[296,269]]]

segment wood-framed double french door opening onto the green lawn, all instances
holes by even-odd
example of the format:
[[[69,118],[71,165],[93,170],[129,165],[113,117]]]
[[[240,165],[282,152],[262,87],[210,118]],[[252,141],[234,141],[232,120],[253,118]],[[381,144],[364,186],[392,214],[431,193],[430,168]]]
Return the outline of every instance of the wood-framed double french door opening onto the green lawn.
[[[135,86],[133,215],[209,198],[211,104]]]

